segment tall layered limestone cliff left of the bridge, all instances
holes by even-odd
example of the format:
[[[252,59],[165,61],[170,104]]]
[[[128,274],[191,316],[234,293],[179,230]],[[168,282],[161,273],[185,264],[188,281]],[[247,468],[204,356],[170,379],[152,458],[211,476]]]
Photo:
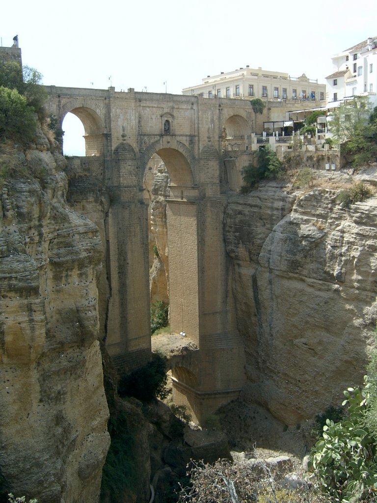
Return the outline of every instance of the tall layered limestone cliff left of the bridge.
[[[99,231],[67,207],[65,161],[42,132],[26,152],[1,145],[0,161],[12,171],[0,206],[2,474],[18,495],[92,503],[109,447]]]

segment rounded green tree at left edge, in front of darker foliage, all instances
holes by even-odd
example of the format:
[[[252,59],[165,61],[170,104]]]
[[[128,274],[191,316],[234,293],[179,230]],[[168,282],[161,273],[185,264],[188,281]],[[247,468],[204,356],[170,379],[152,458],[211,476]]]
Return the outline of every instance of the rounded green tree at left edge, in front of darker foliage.
[[[0,139],[31,141],[35,135],[34,110],[17,89],[0,88]]]

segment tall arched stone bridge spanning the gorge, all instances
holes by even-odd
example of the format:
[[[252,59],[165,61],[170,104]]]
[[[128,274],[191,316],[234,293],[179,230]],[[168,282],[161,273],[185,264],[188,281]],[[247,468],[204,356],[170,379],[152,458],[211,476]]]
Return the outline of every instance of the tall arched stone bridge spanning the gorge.
[[[85,130],[84,157],[68,161],[68,202],[94,221],[104,244],[99,282],[103,338],[117,366],[151,356],[148,201],[144,173],[158,154],[166,198],[170,327],[198,348],[173,369],[174,400],[203,413],[244,382],[222,217],[239,167],[250,159],[256,117],[249,101],[46,87],[49,113]],[[259,123],[264,117],[259,116]]]

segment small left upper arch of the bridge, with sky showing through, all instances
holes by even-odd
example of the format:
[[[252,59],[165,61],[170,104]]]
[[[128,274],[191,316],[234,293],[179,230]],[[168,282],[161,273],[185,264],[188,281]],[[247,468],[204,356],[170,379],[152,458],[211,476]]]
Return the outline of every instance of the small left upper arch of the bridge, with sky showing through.
[[[93,100],[70,100],[60,109],[60,126],[70,112],[80,119],[84,126],[85,155],[99,156],[104,152],[104,120],[98,104]],[[63,138],[64,141],[64,138]]]

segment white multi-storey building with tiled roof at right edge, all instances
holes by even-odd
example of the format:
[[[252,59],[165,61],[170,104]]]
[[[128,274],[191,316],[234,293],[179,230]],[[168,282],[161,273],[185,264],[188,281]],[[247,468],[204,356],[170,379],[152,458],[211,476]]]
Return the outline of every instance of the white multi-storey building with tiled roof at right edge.
[[[336,106],[352,96],[369,96],[377,104],[377,36],[332,57],[333,73],[326,77],[326,100]]]

